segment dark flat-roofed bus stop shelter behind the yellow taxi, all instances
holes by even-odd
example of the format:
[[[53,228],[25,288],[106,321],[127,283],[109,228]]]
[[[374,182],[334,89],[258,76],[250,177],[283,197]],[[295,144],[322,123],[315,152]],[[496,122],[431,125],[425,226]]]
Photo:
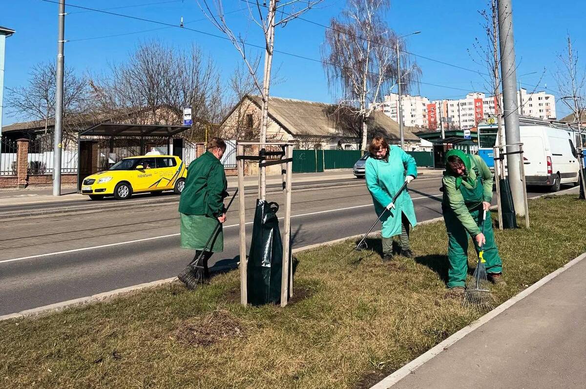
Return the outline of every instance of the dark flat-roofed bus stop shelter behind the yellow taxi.
[[[152,149],[183,158],[180,133],[191,126],[99,123],[79,133],[77,188],[88,175],[107,170],[125,157],[144,155]]]

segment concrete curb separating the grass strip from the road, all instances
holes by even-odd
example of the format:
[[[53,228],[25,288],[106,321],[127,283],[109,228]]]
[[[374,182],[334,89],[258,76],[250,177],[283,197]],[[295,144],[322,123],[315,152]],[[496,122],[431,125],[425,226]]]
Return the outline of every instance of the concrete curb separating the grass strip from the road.
[[[439,218],[421,221],[418,224],[423,225],[423,224],[428,224],[428,223],[434,223],[434,222],[440,221],[442,219],[443,219],[443,216],[440,216]],[[373,231],[369,235],[376,235],[377,233],[380,233],[380,230]],[[331,246],[331,245],[335,245],[336,243],[345,242],[346,240],[349,240],[349,239],[356,239],[357,237],[362,237],[363,235],[364,234],[352,235],[352,236],[342,237],[340,239],[330,240],[329,242],[316,243],[315,245],[299,247],[298,249],[291,250],[291,252],[295,254],[295,253],[303,252],[306,250],[316,249],[316,248],[322,247],[322,246]],[[165,285],[165,284],[170,284],[175,280],[177,280],[177,277],[165,278],[164,280],[151,281],[149,283],[132,285],[130,287],[120,288],[120,289],[116,289],[113,291],[101,292],[101,293],[94,294],[94,295],[87,296],[87,297],[80,297],[80,298],[75,298],[73,300],[56,302],[55,304],[43,305],[43,307],[26,309],[25,311],[15,312],[13,314],[7,314],[7,315],[0,316],[0,321],[9,320],[9,319],[22,319],[22,318],[26,318],[29,316],[48,315],[48,314],[52,314],[54,312],[63,311],[63,309],[66,309],[66,308],[76,307],[77,305],[85,305],[85,304],[91,304],[94,302],[108,301],[108,300],[112,300],[113,298],[120,297],[121,295],[127,295],[127,294],[131,294],[133,292],[138,292],[138,291],[141,291],[144,289],[154,288],[154,287],[158,287],[160,285]]]

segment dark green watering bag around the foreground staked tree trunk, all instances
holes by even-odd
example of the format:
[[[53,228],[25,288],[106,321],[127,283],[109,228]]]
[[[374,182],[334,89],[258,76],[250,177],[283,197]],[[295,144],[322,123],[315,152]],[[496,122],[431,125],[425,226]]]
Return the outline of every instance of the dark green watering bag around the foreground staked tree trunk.
[[[278,210],[276,202],[257,199],[247,266],[248,302],[252,305],[281,302],[283,243]]]

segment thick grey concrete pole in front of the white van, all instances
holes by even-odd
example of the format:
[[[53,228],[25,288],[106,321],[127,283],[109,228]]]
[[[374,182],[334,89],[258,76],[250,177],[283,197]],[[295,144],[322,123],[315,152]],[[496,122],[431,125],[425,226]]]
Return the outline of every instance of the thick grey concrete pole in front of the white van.
[[[519,133],[519,110],[517,107],[517,72],[515,67],[515,37],[513,36],[513,7],[511,0],[498,0],[500,74],[503,85],[503,113],[505,115],[505,139],[507,144],[521,142]],[[521,177],[519,146],[507,146],[507,166],[513,204],[517,215],[524,216],[525,201]]]

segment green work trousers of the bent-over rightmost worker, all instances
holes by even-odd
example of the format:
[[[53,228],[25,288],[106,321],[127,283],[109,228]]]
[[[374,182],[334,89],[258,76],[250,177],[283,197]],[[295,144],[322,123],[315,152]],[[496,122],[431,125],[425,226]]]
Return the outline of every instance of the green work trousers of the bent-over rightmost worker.
[[[472,218],[478,225],[482,223],[483,211],[481,208],[470,211]],[[468,274],[468,232],[464,229],[462,223],[458,220],[454,212],[444,209],[444,222],[448,230],[448,288],[463,287],[466,284],[466,274]],[[486,260],[486,273],[501,273],[502,261],[500,260],[499,250],[496,248],[495,234],[492,231],[492,219],[487,212],[484,222],[484,259]],[[479,247],[473,240],[478,256]],[[476,258],[478,260],[478,257]]]

